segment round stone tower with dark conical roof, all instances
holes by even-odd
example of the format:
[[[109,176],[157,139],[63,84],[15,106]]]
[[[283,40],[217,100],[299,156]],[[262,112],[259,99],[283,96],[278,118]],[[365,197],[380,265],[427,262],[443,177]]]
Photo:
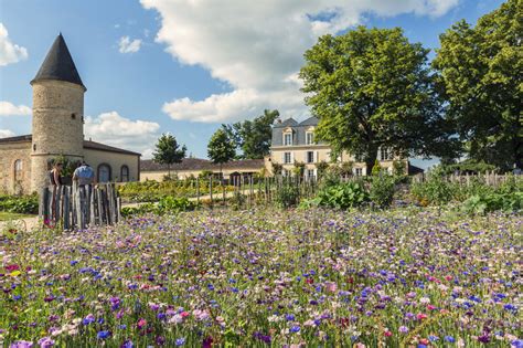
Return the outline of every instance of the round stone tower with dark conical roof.
[[[56,156],[84,157],[84,93],[71,53],[60,34],[31,81],[33,125],[31,191],[49,184],[49,162]]]

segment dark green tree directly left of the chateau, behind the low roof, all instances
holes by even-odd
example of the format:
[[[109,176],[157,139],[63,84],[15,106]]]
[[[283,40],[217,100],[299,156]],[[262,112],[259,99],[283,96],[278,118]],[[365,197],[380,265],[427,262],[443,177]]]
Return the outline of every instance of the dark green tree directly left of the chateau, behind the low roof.
[[[270,152],[273,124],[278,118],[278,110],[264,110],[264,114],[253,120],[238,122],[232,125],[222,125],[230,138],[242,151],[237,158],[264,158]]]

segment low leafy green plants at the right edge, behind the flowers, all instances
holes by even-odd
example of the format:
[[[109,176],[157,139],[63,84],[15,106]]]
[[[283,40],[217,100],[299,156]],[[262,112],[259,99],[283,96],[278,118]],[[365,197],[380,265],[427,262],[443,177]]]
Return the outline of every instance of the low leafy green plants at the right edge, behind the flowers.
[[[474,194],[463,202],[462,210],[481,215],[498,210],[517,212],[523,210],[523,192]]]

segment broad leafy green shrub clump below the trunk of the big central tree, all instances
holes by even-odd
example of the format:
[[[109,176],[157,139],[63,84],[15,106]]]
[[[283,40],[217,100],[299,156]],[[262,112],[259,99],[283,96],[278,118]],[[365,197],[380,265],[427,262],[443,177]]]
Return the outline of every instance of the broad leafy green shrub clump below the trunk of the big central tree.
[[[323,187],[313,203],[321,207],[349,209],[362,205],[366,201],[369,201],[369,193],[363,183],[348,181]]]

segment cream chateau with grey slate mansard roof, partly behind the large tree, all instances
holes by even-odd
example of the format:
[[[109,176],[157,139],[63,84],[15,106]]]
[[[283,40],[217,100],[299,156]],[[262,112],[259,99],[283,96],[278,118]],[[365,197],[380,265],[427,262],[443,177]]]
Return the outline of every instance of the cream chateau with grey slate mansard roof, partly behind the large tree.
[[[318,118],[310,117],[298,123],[293,118],[284,122],[277,120],[273,127],[273,140],[270,155],[266,158],[266,167],[270,169],[271,164],[282,166],[282,175],[290,176],[295,164],[305,164],[305,177],[312,178],[318,176],[318,164],[332,164],[331,147],[329,144],[316,141],[314,131],[318,127]],[[386,149],[380,149],[377,160],[383,169],[393,172],[394,161],[404,164],[405,170],[410,168],[408,160],[396,158]],[[343,151],[334,162],[352,162],[352,171],[354,176],[366,176],[365,162],[355,156]]]

